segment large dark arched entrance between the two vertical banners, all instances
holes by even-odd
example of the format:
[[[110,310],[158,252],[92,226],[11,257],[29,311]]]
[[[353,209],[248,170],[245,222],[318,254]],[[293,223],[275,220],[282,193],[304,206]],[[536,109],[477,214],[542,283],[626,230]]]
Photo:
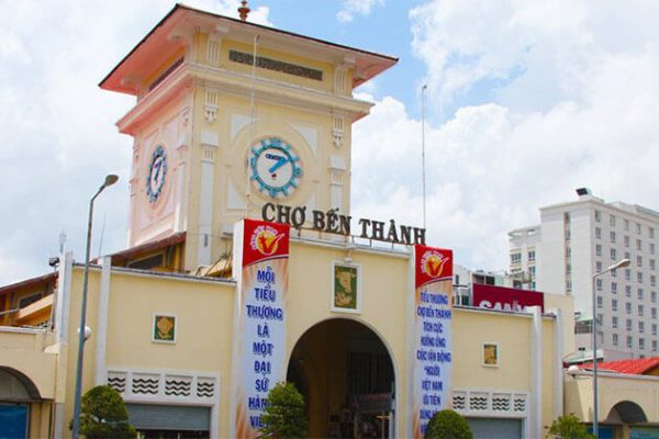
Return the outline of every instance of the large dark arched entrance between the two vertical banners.
[[[311,437],[393,437],[393,362],[365,324],[333,318],[308,329],[293,348],[287,381],[304,396]]]

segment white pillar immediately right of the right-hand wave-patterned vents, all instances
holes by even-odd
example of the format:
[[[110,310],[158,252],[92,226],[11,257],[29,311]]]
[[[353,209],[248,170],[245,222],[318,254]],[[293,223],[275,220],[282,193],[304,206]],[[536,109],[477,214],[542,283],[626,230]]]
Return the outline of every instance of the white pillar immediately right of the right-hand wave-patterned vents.
[[[530,413],[528,436],[543,435],[543,314],[539,306],[532,306],[530,324]]]

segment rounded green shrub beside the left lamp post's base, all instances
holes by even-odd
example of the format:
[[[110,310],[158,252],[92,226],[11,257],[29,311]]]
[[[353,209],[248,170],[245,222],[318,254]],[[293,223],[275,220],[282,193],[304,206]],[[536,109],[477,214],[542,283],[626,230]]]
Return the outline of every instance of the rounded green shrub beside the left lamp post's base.
[[[74,420],[69,429],[74,428]],[[80,434],[87,439],[129,439],[137,431],[129,424],[129,412],[119,392],[97,385],[80,401]]]

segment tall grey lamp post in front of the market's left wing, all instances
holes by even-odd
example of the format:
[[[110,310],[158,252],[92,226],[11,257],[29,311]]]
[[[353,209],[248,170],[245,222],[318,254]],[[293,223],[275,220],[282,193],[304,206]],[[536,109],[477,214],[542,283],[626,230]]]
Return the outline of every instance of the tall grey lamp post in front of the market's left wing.
[[[85,324],[87,319],[87,281],[89,279],[89,252],[91,248],[91,221],[93,217],[93,201],[100,195],[103,190],[116,183],[119,177],[115,175],[105,176],[105,181],[93,194],[89,201],[89,219],[87,223],[87,249],[85,252],[85,278],[82,280],[82,304],[80,305],[80,327],[78,328],[78,367],[76,369],[76,394],[74,399],[74,439],[80,437],[80,396],[82,393],[82,360],[85,356],[86,330]]]

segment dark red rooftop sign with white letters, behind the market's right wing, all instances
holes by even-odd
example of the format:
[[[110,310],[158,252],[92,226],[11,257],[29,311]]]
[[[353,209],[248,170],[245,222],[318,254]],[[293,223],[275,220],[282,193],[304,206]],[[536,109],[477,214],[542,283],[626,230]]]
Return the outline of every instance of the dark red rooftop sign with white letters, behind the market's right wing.
[[[524,311],[527,306],[539,306],[545,312],[545,294],[537,291],[474,283],[473,306],[501,311]]]

